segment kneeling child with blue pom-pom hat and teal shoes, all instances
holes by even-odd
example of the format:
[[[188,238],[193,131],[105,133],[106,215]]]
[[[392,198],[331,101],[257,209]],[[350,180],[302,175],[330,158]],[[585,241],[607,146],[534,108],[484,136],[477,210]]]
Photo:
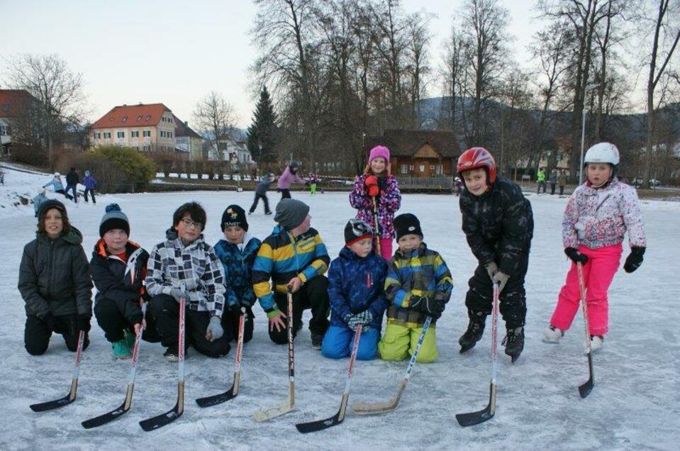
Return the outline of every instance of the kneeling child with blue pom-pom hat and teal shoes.
[[[111,343],[115,359],[132,357],[135,334],[143,321],[140,303],[148,301],[143,282],[149,253],[128,240],[130,223],[118,204],[106,206],[99,224],[99,241],[94,245],[90,272],[98,291],[94,316]],[[151,308],[147,308],[143,338],[160,341]]]

